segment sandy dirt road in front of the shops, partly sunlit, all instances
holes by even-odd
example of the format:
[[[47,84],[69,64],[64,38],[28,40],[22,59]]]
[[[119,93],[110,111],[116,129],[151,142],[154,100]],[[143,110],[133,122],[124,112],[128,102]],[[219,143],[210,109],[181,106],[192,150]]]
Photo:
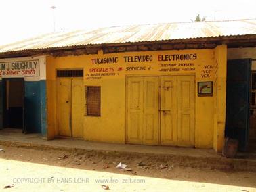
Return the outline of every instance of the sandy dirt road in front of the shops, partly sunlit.
[[[110,191],[256,191],[255,172],[231,168],[191,167],[147,155],[0,149],[0,191],[105,191],[101,185]],[[117,169],[119,162],[131,170]]]

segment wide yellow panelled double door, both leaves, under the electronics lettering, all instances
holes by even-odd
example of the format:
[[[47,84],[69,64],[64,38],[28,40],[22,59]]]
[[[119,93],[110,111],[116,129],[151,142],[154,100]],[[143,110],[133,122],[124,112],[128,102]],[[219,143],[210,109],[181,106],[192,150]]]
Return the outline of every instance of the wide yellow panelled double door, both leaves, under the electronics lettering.
[[[126,143],[194,146],[194,76],[127,78]]]

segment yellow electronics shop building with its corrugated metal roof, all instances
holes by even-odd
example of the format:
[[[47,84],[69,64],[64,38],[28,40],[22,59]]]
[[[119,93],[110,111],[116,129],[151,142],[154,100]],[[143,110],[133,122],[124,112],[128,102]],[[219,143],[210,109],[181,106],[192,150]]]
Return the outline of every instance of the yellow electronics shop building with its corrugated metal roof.
[[[158,24],[54,34],[51,41],[41,37],[40,49],[32,41],[25,42],[30,50],[0,46],[0,56],[11,62],[22,55],[44,58],[40,72],[46,79],[46,106],[41,105],[41,116],[47,118],[41,119],[41,132],[46,139],[220,152],[227,127],[227,56],[231,46],[256,45],[256,21],[250,22],[254,34],[240,27],[230,35],[225,22],[175,24],[179,30],[174,32],[174,24]],[[234,28],[238,23],[248,24],[229,22]],[[213,25],[221,37],[199,32]]]

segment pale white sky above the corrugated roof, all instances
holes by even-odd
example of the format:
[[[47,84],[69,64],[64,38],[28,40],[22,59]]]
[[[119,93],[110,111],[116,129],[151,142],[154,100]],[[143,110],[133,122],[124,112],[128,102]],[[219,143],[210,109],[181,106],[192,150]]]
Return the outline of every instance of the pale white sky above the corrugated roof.
[[[255,7],[255,0],[0,0],[0,45],[54,31],[190,22],[197,14],[208,21],[256,18]]]

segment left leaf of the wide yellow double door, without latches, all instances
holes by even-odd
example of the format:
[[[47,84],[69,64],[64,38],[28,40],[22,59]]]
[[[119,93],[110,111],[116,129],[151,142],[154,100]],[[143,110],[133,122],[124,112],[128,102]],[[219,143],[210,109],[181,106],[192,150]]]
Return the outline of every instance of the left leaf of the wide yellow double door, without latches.
[[[127,78],[127,143],[158,144],[158,77]]]

